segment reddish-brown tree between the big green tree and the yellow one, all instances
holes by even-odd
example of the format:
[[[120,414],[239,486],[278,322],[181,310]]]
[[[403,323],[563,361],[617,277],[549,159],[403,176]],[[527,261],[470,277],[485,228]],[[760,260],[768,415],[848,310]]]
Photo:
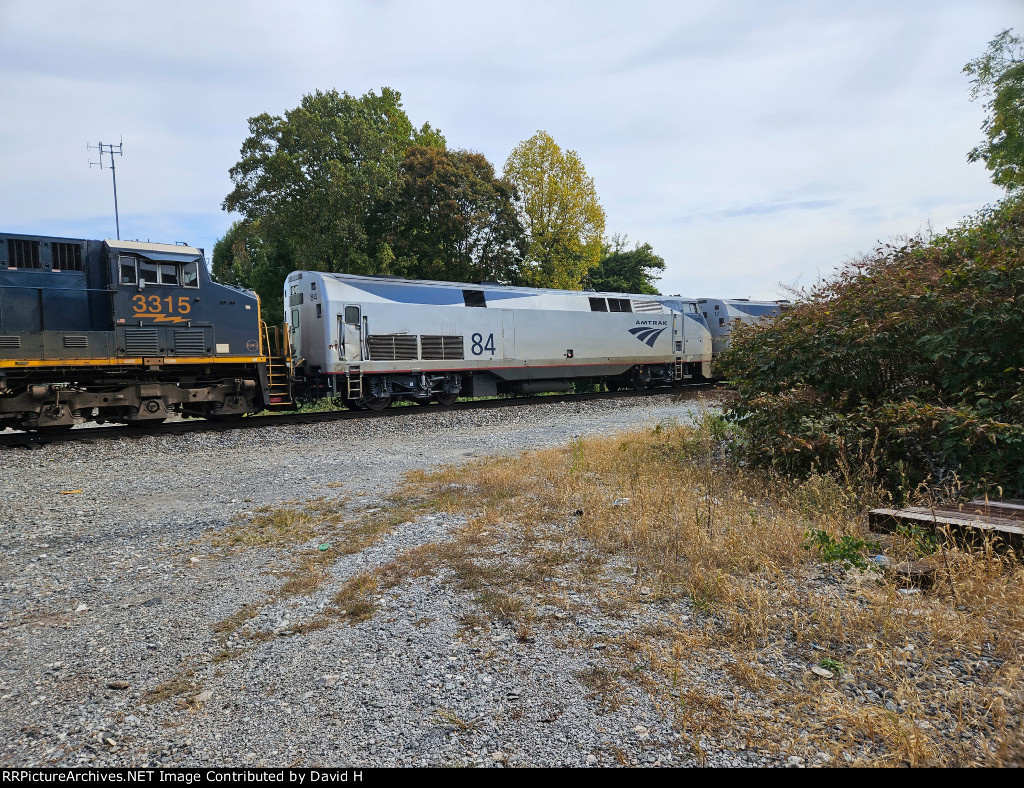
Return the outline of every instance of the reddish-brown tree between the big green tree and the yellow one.
[[[526,237],[512,186],[481,154],[414,145],[399,170],[389,238],[403,276],[518,282]]]

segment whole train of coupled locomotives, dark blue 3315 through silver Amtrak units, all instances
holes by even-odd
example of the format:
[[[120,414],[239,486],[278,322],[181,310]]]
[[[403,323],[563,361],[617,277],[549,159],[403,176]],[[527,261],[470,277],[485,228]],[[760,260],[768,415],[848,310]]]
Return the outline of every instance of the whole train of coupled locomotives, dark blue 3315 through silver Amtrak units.
[[[284,297],[267,326],[201,249],[0,233],[0,429],[673,386],[711,378],[733,317],[782,303],[313,271]]]

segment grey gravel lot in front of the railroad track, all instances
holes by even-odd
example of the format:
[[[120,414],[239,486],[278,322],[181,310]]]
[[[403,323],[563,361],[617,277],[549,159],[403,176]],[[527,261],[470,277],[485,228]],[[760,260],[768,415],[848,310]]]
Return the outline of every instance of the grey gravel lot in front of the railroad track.
[[[593,665],[600,639],[615,634],[606,619],[566,621],[592,644],[580,650],[543,632],[522,643],[500,626],[465,638],[458,619],[472,610],[471,596],[428,577],[386,592],[364,623],[292,631],[353,573],[443,540],[454,518],[398,527],[340,558],[329,587],[276,606],[266,604],[280,584],[266,551],[212,555],[202,539],[258,506],[347,496],[339,506],[366,508],[410,470],[684,421],[695,407],[665,395],[425,408],[3,452],[0,763],[692,762],[644,693],[608,711],[574,677]],[[282,637],[213,659],[222,648],[213,625],[253,603],[262,607],[252,624]],[[680,611],[650,615],[670,613]],[[190,685],[177,696],[146,698],[183,674]],[[609,747],[621,757],[609,760]],[[712,752],[707,762],[748,761]]]

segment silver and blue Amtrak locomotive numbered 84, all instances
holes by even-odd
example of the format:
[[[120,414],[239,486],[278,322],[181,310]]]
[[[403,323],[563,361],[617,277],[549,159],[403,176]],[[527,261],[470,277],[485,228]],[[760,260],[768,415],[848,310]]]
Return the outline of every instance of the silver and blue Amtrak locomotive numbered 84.
[[[354,408],[709,377],[711,336],[648,296],[295,271],[285,282],[305,396]]]

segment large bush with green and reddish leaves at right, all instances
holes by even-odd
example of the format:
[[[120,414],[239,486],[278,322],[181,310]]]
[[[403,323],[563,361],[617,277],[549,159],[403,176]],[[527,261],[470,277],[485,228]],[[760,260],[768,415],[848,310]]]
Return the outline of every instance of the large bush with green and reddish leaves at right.
[[[1024,201],[880,248],[738,327],[721,368],[752,464],[1024,496]]]

